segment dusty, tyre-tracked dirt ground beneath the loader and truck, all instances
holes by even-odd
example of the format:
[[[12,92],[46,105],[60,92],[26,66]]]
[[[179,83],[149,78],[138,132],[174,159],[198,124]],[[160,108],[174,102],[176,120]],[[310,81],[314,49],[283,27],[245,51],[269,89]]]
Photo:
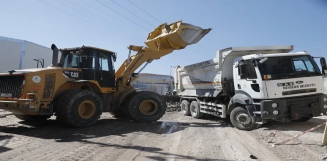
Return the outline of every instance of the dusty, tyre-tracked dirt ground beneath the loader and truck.
[[[251,132],[231,127],[226,119],[206,116],[199,120],[180,112],[167,112],[155,123],[115,119],[105,113],[96,126],[83,129],[64,128],[55,120],[31,124],[1,111],[0,121],[0,160],[6,161],[322,160],[326,153],[326,148],[318,145],[323,127],[296,142],[271,147],[273,141],[324,121],[321,118],[303,126],[269,123]],[[267,143],[267,136],[277,130]]]

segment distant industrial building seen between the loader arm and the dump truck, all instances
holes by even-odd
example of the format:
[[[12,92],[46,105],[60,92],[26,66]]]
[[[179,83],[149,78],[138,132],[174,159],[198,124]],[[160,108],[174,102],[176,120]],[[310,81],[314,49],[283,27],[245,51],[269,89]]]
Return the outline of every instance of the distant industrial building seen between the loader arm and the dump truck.
[[[174,86],[174,77],[170,75],[159,75],[140,73],[138,78],[132,82],[135,88],[164,94]]]

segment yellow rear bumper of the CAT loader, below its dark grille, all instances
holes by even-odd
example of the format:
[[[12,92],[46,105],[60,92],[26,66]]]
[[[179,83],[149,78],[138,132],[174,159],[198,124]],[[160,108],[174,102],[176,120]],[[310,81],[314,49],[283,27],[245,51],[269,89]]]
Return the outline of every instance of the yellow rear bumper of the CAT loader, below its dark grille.
[[[22,115],[38,115],[40,108],[35,105],[33,100],[21,99],[15,101],[0,101],[0,109]]]

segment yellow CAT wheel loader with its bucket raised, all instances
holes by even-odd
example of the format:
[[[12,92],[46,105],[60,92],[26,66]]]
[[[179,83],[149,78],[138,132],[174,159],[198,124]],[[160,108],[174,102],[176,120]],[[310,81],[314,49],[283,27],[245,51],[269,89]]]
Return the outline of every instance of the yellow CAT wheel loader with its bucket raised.
[[[197,43],[210,31],[182,20],[161,24],[148,34],[146,46],[128,46],[128,57],[117,71],[113,51],[84,45],[58,49],[52,44],[50,66],[0,73],[0,109],[24,121],[55,115],[71,127],[95,125],[103,112],[138,122],[157,121],[167,107],[163,98],[136,91],[131,82],[148,63]],[[131,56],[132,51],[136,54]]]

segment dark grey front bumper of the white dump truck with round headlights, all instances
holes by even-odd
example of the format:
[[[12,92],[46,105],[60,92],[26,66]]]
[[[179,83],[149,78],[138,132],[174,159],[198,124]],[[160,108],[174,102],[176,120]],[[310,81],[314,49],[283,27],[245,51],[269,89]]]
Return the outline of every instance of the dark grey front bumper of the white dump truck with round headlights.
[[[298,120],[303,117],[320,116],[321,113],[325,113],[326,109],[324,105],[324,98],[327,95],[316,95],[303,98],[292,99],[278,99],[278,100],[264,100],[260,102],[260,111],[262,119],[282,119],[287,118],[290,120]],[[277,107],[273,108],[272,104],[276,103]],[[278,114],[273,114],[277,110]]]

